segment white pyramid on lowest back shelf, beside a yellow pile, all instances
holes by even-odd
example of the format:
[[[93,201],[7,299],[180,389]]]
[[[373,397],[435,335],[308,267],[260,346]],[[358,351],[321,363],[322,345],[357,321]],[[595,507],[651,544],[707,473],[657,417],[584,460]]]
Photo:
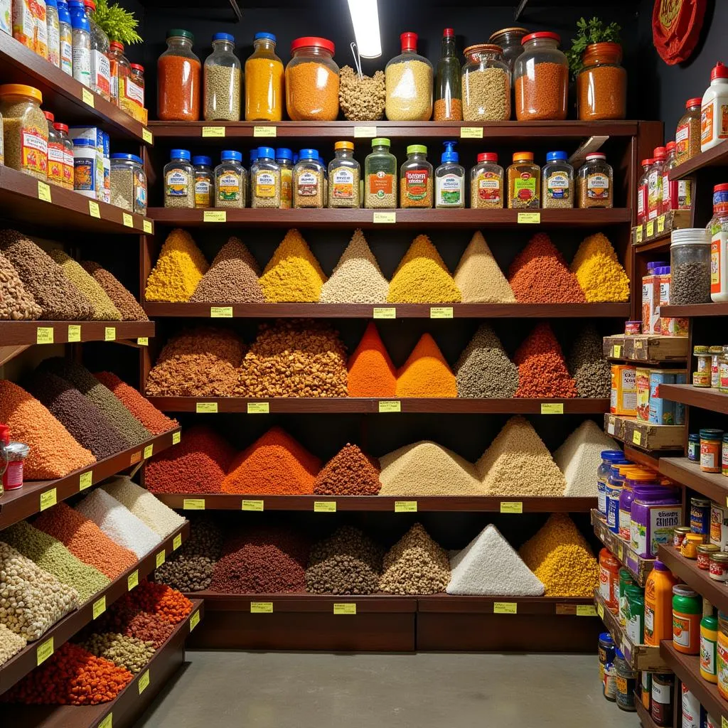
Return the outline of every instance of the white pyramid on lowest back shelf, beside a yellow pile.
[[[450,559],[448,594],[542,596],[544,585],[491,523]]]

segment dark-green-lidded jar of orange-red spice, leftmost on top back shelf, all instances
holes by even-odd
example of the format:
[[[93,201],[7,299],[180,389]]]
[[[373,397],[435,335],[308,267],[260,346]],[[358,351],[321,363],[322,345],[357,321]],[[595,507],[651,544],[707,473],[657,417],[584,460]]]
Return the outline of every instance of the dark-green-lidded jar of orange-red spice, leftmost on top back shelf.
[[[202,64],[193,43],[189,31],[167,31],[167,50],[157,60],[157,116],[163,122],[199,121]]]

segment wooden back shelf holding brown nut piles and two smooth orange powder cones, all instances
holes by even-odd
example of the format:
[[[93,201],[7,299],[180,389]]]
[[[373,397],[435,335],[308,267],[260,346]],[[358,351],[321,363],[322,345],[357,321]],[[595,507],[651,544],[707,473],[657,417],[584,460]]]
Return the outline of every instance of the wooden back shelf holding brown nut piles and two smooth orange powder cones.
[[[403,399],[373,399],[365,397],[279,397],[248,399],[245,397],[147,397],[163,412],[198,412],[198,405],[216,405],[217,412],[248,412],[248,405],[267,404],[269,414],[379,412],[380,403],[394,402],[402,412],[542,414],[542,407],[562,405],[561,414],[604,414],[609,409],[607,399],[533,400],[510,399],[476,400],[466,397],[409,397]],[[386,406],[386,405],[381,405]],[[396,406],[396,405],[395,405]],[[204,411],[204,410],[203,410]],[[202,414],[202,413],[201,413]],[[252,413],[251,413],[252,414]],[[256,413],[259,414],[259,413]],[[544,414],[548,414],[545,412]]]

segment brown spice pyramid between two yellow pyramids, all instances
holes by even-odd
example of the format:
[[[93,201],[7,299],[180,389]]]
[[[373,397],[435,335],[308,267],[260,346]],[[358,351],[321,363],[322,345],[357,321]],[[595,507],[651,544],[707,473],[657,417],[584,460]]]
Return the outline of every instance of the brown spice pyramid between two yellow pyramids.
[[[202,277],[190,301],[261,304],[264,298],[258,282],[260,274],[250,250],[242,244],[240,238],[233,236],[220,248],[210,270]]]

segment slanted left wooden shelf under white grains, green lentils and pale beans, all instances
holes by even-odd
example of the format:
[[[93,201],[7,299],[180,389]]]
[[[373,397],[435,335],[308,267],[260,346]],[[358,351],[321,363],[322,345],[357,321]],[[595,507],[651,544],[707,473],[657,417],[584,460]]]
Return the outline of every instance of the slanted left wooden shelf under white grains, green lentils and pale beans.
[[[11,657],[7,662],[4,662],[0,666],[0,695],[38,666],[39,648],[50,640],[50,638],[53,640],[53,649],[58,649],[79,632],[79,630],[94,621],[94,605],[100,599],[105,599],[106,609],[108,609],[117,599],[130,591],[130,576],[133,578],[135,572],[137,573],[137,579],[143,579],[143,577],[148,576],[157,568],[157,555],[162,553],[162,551],[165,552],[165,555],[169,555],[175,550],[175,539],[178,539],[177,545],[179,546],[181,542],[186,541],[188,538],[189,521],[185,521],[179,529],[174,531],[173,534],[170,534],[166,539],[160,541],[159,545],[138,561],[135,566],[124,571],[121,576],[114,579],[106,588],[95,594],[95,596],[90,598],[85,604],[79,606],[74,612],[66,614],[66,617],[56,622],[41,638],[29,643],[15,657]],[[23,725],[26,725],[24,721]]]

